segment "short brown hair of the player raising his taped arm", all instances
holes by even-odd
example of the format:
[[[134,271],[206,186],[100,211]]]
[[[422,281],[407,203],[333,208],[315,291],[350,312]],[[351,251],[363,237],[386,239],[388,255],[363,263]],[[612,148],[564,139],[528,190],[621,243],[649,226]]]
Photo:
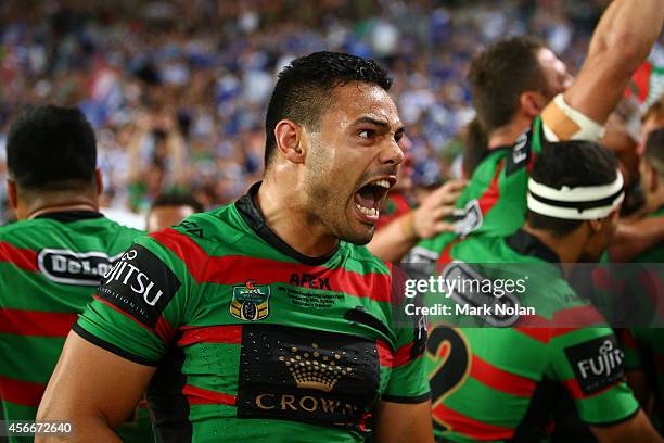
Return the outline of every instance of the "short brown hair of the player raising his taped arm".
[[[514,117],[524,91],[546,88],[537,59],[542,48],[536,38],[520,36],[498,41],[473,59],[468,80],[477,117],[486,130],[505,126]]]

